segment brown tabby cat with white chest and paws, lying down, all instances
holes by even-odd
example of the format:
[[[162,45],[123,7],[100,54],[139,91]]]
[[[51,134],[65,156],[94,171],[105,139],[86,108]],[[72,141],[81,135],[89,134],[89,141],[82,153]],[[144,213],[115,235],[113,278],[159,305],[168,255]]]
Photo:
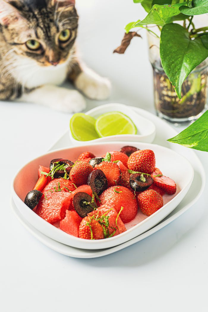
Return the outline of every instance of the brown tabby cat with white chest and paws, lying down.
[[[75,0],[0,0],[0,100],[21,100],[65,112],[109,96],[110,83],[76,55]]]

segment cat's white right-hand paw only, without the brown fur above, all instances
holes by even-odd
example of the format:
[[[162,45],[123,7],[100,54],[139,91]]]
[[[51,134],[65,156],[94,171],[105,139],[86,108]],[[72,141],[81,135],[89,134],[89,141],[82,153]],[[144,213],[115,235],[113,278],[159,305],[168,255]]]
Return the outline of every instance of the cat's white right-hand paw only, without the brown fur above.
[[[93,100],[105,100],[111,91],[110,81],[88,68],[77,77],[75,86]]]

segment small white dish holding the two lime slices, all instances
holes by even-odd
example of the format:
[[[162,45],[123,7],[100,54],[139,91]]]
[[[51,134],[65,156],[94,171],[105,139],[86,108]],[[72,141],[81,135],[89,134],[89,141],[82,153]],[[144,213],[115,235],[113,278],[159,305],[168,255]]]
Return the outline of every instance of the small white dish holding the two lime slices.
[[[137,128],[137,134],[119,134],[119,135],[111,135],[106,136],[99,139],[94,139],[90,141],[78,141],[73,138],[71,131],[69,130],[70,135],[70,141],[73,145],[87,145],[87,144],[95,144],[99,142],[112,142],[112,141],[136,141],[136,142],[147,142],[152,143],[155,138],[155,125],[153,122],[142,115],[139,115],[134,110],[131,109],[131,107],[119,104],[119,103],[111,103],[111,104],[104,104],[101,106],[98,106],[96,108],[93,108],[92,110],[89,110],[86,112],[86,115],[92,116],[95,119],[98,118],[100,115],[113,112],[113,111],[119,111],[128,117],[131,118],[133,123],[135,124]]]

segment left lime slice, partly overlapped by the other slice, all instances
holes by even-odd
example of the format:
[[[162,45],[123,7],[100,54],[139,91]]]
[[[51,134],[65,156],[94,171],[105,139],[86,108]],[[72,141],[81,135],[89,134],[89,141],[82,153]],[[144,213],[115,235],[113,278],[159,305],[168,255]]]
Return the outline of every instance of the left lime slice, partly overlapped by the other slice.
[[[95,119],[83,113],[76,113],[70,119],[70,130],[73,138],[78,141],[90,141],[99,136],[94,129]]]

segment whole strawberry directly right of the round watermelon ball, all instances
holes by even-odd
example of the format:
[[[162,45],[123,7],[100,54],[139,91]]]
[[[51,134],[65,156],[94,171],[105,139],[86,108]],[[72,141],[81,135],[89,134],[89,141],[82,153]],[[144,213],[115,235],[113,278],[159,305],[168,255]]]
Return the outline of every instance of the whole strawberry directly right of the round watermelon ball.
[[[137,196],[137,201],[141,211],[147,216],[151,216],[163,206],[162,196],[155,190],[146,190]]]

